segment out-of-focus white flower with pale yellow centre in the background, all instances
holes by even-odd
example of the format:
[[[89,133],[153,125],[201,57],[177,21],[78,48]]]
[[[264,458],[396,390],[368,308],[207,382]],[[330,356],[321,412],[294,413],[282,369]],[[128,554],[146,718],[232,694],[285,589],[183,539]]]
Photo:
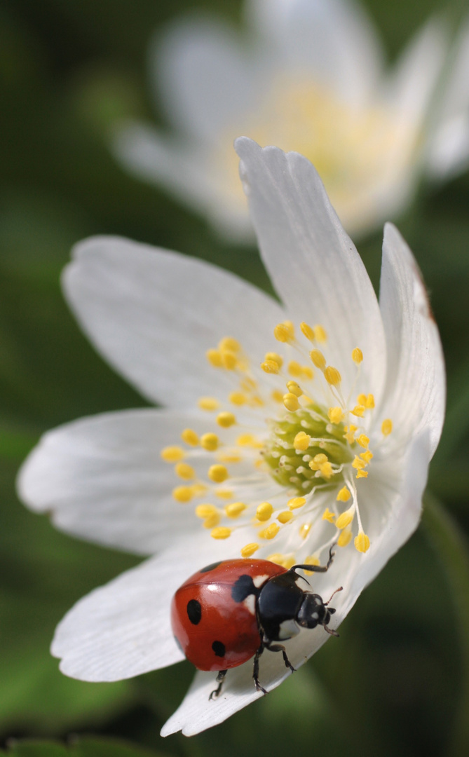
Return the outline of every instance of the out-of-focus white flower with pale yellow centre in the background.
[[[231,149],[239,134],[308,157],[353,234],[396,217],[422,171],[443,179],[467,166],[469,28],[436,99],[441,20],[385,73],[376,33],[352,0],[246,0],[245,11],[246,39],[188,17],[152,46],[150,73],[174,135],[137,122],[117,128],[115,154],[137,176],[249,240]]]

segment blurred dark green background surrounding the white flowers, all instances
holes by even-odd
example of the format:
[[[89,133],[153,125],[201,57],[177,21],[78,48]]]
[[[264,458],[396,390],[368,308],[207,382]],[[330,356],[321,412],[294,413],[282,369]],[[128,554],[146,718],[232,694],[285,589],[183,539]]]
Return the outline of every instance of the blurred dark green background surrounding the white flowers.
[[[368,0],[389,61],[438,0]],[[192,739],[159,729],[192,678],[189,663],[119,684],[64,678],[48,644],[64,612],[136,563],[59,534],[14,493],[47,428],[144,402],[102,362],[61,297],[70,246],[112,233],[203,257],[268,286],[257,252],[224,245],[203,220],[126,176],[107,148],[117,117],[161,120],[146,46],[191,8],[239,23],[239,0],[2,0],[0,5],[0,731],[17,757],[271,757],[469,754],[469,176],[423,188],[399,228],[430,288],[449,372],[449,415],[424,525],[328,643],[280,689]],[[360,245],[374,283],[380,234]],[[439,502],[444,503],[442,512]],[[72,740],[98,734],[134,743]],[[261,744],[261,747],[260,747]],[[84,746],[83,746],[84,745]],[[119,751],[120,750],[120,751]],[[148,750],[148,751],[147,751]]]

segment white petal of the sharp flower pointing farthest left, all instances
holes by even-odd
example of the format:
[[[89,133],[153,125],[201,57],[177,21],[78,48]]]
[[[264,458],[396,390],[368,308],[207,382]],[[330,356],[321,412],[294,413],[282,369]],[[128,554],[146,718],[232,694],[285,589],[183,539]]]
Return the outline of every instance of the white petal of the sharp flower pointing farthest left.
[[[128,410],[48,431],[23,464],[19,495],[67,533],[154,554],[199,525],[193,506],[171,497],[184,482],[160,456],[163,447],[180,443],[183,428],[199,435],[218,429],[210,417]]]

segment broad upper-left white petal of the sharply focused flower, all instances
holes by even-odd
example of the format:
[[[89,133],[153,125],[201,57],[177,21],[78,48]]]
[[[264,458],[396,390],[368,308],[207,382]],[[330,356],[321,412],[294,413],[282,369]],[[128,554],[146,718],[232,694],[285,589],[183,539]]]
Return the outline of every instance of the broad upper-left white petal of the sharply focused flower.
[[[77,245],[64,272],[67,301],[93,344],[150,400],[190,408],[213,388],[232,391],[205,351],[221,337],[262,360],[283,310],[227,271],[127,239]]]

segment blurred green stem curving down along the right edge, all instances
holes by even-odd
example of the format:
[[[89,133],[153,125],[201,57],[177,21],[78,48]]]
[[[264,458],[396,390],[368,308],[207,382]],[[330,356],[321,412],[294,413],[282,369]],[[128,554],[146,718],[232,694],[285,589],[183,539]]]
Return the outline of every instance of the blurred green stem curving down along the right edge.
[[[461,650],[461,683],[448,757],[469,755],[469,545],[439,500],[427,492],[422,519],[431,544],[446,570],[457,615]]]

